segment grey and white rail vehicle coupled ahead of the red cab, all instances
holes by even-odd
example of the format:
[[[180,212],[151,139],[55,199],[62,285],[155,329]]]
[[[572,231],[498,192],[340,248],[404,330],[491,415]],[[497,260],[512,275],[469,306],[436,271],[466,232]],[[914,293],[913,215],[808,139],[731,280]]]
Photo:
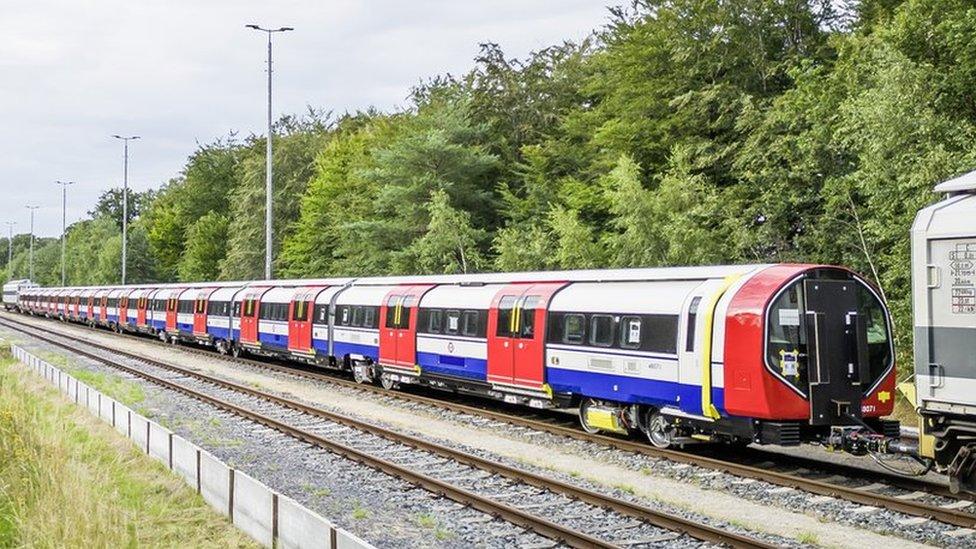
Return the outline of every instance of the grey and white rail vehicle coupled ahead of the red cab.
[[[955,492],[976,493],[976,172],[940,183],[912,225],[919,453]]]

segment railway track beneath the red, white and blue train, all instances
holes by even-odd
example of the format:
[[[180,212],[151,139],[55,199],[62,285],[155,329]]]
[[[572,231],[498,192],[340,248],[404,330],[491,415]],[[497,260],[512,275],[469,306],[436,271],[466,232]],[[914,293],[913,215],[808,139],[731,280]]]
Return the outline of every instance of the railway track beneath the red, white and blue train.
[[[9,316],[4,317],[5,321],[9,321]],[[17,322],[17,321],[15,321]],[[18,324],[22,324],[17,322]],[[46,328],[39,328],[32,325],[27,325],[34,329],[40,329],[61,337],[68,337],[76,341],[81,341],[91,345],[97,345],[89,343],[81,338],[75,338],[73,336],[65,336],[54,330],[49,330]],[[129,337],[138,337],[136,335],[129,335]],[[139,338],[140,341],[146,341],[145,338]],[[166,345],[162,342],[153,342],[159,345]],[[106,349],[109,349],[106,347]],[[634,440],[624,439],[615,436],[602,435],[602,434],[589,434],[586,433],[575,426],[569,424],[565,421],[555,420],[553,417],[546,417],[545,419],[525,417],[523,415],[509,414],[498,410],[487,409],[480,406],[475,406],[466,402],[456,402],[452,400],[447,400],[444,398],[431,398],[429,396],[416,394],[413,392],[405,391],[391,391],[383,389],[381,387],[373,385],[363,385],[358,384],[354,381],[343,379],[337,375],[330,375],[327,373],[322,373],[321,371],[313,371],[310,366],[303,365],[283,365],[273,361],[258,361],[244,357],[229,357],[224,355],[218,355],[212,351],[207,351],[202,348],[194,348],[189,346],[181,346],[181,350],[194,354],[206,355],[210,358],[220,357],[225,360],[246,364],[253,368],[259,368],[269,371],[275,371],[280,373],[286,373],[290,375],[295,375],[303,378],[314,379],[346,388],[353,388],[360,391],[365,391],[372,394],[383,395],[386,397],[392,397],[397,399],[406,400],[413,403],[424,404],[434,407],[439,407],[441,409],[450,410],[462,414],[470,414],[475,416],[484,417],[493,421],[508,423],[516,426],[526,427],[529,429],[535,429],[543,432],[547,432],[554,435],[565,436],[573,438],[576,440],[595,442],[603,444],[605,446],[623,450],[627,452],[632,452],[636,454],[647,455],[654,458],[663,458],[672,462],[694,465],[699,467],[705,467],[715,471],[720,471],[723,473],[728,473],[738,477],[754,479],[762,482],[768,482],[778,486],[794,488],[802,490],[804,492],[809,492],[818,496],[828,496],[832,498],[838,498],[852,503],[857,503],[859,505],[866,505],[872,507],[878,507],[883,509],[888,509],[891,511],[903,513],[906,515],[911,515],[915,517],[924,517],[945,524],[950,524],[953,526],[958,526],[961,528],[976,528],[976,514],[955,508],[957,505],[950,505],[949,507],[943,507],[940,505],[934,505],[929,503],[924,503],[920,501],[914,501],[918,499],[918,496],[923,494],[932,495],[940,498],[948,498],[954,502],[965,501],[968,498],[960,497],[951,494],[948,488],[931,482],[926,482],[919,479],[913,479],[908,477],[898,477],[894,475],[886,475],[883,473],[878,473],[875,471],[870,471],[861,467],[855,467],[850,465],[843,465],[825,461],[819,461],[810,458],[802,458],[795,456],[782,456],[779,454],[774,454],[772,452],[763,451],[752,451],[751,461],[759,462],[758,464],[744,464],[738,463],[736,461],[731,461],[729,459],[722,459],[719,457],[702,455],[693,452],[686,452],[673,449],[659,449],[643,442],[637,442]],[[112,351],[117,353],[123,353],[121,351]],[[123,353],[124,354],[124,353]],[[136,357],[135,355],[131,355]],[[445,394],[446,395],[446,394]],[[793,469],[813,469],[820,470],[825,473],[824,476],[827,478],[807,478],[795,473],[790,473],[786,471],[776,471],[771,470],[767,466],[764,466],[763,461],[770,460],[789,460],[789,463]],[[831,477],[840,476],[845,478],[855,478],[865,481],[865,484],[859,487],[852,487],[844,484],[840,484],[835,480],[829,480]],[[896,487],[902,490],[906,490],[909,494],[902,494],[899,496],[885,495],[880,493],[875,493],[875,490],[882,488],[883,486]],[[867,488],[867,489],[866,489]],[[914,498],[909,498],[906,496],[915,496]]]

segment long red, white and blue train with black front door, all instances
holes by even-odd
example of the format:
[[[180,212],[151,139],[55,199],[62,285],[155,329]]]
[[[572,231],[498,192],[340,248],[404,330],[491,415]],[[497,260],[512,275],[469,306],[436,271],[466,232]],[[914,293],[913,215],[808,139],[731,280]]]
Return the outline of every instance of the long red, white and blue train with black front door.
[[[23,288],[23,312],[579,409],[588,431],[799,444],[897,436],[891,321],[839,267]]]

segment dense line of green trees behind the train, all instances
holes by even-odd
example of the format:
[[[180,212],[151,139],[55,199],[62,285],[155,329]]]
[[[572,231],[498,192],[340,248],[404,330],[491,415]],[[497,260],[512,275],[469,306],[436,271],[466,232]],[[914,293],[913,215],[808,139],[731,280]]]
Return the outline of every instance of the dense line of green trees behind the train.
[[[909,337],[912,218],[976,166],[976,8],[636,0],[611,14],[526,59],[485,44],[397,112],[282,118],[277,275],[838,263],[878,283]],[[263,139],[202,145],[134,197],[133,282],[261,276]],[[117,280],[119,204],[109,191],[69,228],[69,283]],[[2,242],[0,265],[25,275],[26,237],[9,266]],[[58,282],[57,241],[36,245],[36,278]]]

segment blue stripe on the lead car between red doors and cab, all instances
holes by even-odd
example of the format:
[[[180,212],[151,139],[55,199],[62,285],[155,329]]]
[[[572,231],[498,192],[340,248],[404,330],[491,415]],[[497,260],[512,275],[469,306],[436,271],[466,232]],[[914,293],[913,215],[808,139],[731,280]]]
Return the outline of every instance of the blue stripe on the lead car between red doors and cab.
[[[576,393],[618,402],[674,406],[689,414],[701,414],[701,386],[673,381],[642,379],[599,372],[546,368],[546,381],[557,393]],[[712,389],[712,402],[725,410],[725,391]]]

